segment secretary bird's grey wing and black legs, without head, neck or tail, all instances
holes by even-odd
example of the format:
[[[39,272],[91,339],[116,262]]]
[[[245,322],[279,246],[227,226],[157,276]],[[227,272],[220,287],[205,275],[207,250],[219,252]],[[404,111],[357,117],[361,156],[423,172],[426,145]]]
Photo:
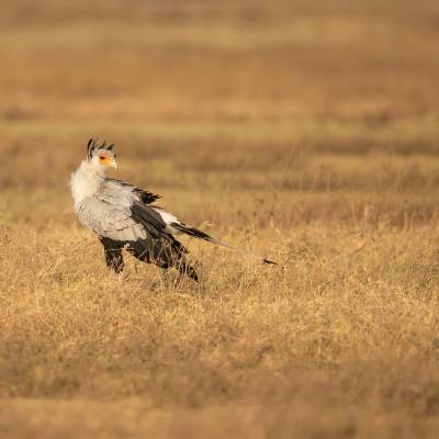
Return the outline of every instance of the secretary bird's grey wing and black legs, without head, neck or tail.
[[[159,196],[120,180],[105,179],[100,191],[77,207],[82,225],[99,235],[110,268],[123,267],[120,249],[161,268],[175,267],[192,279],[198,275],[184,254],[188,250],[172,236],[167,223],[150,203]]]

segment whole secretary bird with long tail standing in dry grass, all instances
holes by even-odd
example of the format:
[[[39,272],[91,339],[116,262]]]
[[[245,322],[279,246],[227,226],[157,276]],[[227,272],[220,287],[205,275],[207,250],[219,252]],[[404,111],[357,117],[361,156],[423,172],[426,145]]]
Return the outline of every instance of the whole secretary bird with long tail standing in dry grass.
[[[247,254],[180,222],[156,204],[160,195],[105,177],[109,168],[117,168],[114,144],[90,138],[87,158],[71,173],[70,189],[79,222],[98,235],[106,267],[114,273],[123,272],[125,249],[143,262],[154,263],[164,270],[176,268],[181,274],[199,282],[195,268],[187,259],[189,251],[176,235],[189,235]],[[264,263],[275,263],[259,258]]]

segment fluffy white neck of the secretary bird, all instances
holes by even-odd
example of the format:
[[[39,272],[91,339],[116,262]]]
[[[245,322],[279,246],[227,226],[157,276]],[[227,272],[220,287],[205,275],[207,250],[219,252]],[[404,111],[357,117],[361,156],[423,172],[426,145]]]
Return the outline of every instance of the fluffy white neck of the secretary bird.
[[[75,206],[88,196],[94,195],[104,179],[104,169],[92,162],[82,160],[79,168],[71,175],[70,188]]]

